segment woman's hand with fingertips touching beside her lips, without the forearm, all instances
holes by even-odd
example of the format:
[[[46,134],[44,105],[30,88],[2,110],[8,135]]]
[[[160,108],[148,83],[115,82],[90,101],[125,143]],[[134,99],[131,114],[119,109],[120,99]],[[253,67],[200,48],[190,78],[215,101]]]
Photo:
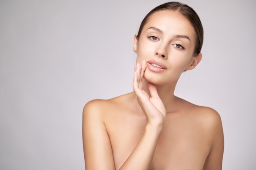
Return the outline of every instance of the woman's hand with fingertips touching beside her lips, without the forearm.
[[[163,126],[166,118],[166,110],[162,100],[157,93],[157,88],[154,84],[148,82],[148,90],[150,96],[144,90],[142,78],[144,76],[146,67],[147,64],[145,61],[142,64],[137,63],[137,65],[135,65],[133,90],[137,95],[139,105],[147,117],[148,124],[157,124]]]

